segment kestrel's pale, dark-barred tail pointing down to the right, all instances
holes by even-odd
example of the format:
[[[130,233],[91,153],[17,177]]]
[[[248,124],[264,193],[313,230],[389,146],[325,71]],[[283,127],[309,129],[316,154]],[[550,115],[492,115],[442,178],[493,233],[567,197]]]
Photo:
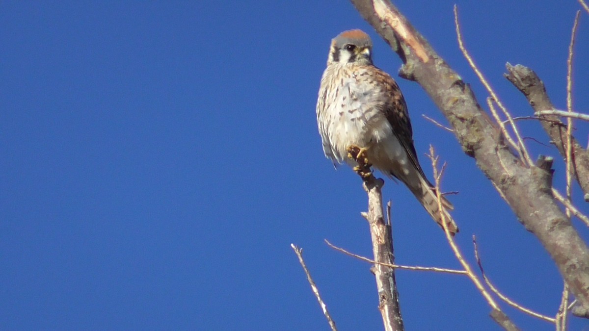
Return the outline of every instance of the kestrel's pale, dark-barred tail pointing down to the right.
[[[436,189],[432,186],[429,181],[424,178],[423,176],[419,177],[419,183],[414,183],[413,185],[409,185],[409,189],[415,195],[417,200],[421,202],[423,208],[428,211],[428,213],[432,216],[432,219],[438,223],[442,229],[442,213],[439,210],[438,206],[438,197],[436,196]],[[448,210],[454,209],[452,203],[446,199],[446,197],[442,196],[442,206],[444,206],[444,219],[446,220],[446,226],[448,227],[448,231],[454,236],[458,232],[458,226],[452,219],[452,216],[448,213]]]

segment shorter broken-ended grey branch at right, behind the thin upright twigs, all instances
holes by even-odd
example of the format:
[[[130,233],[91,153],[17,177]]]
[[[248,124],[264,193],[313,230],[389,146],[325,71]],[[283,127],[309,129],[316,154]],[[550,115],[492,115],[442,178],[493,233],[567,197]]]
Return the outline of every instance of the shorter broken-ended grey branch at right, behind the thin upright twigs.
[[[540,77],[528,67],[523,65],[511,65],[507,63],[507,78],[511,84],[521,91],[530,102],[534,112],[551,111],[556,109],[544,87]],[[542,128],[550,137],[552,144],[558,148],[563,158],[567,157],[567,125],[562,123],[558,115],[540,115]],[[589,152],[581,147],[578,141],[571,137],[571,148],[573,148],[573,173],[577,182],[583,189],[585,196],[589,196]]]

